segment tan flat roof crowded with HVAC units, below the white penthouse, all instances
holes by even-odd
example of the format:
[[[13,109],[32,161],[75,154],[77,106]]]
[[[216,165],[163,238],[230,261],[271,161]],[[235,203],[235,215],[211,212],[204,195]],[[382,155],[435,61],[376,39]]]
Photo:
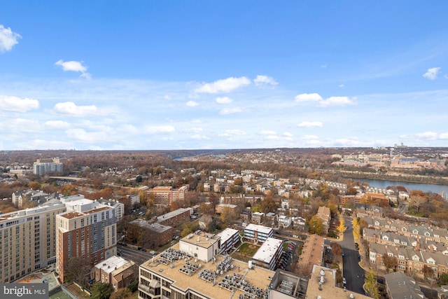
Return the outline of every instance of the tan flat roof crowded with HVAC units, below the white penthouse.
[[[183,291],[193,289],[208,298],[238,299],[239,295],[244,295],[244,288],[246,291],[256,292],[258,288],[259,292],[267,292],[274,276],[273,271],[261,267],[248,269],[248,263],[233,260],[230,256],[217,255],[216,260],[212,259],[209,263],[181,254],[179,259],[175,259],[173,262],[167,259],[170,254],[176,256],[181,252],[179,244],[176,244],[141,264],[140,267],[174,281],[172,286],[176,288]],[[223,270],[221,274],[221,270],[218,269],[221,269],[223,265],[228,265],[228,270]],[[216,277],[213,274],[216,274]],[[235,284],[235,286],[230,286],[231,284]]]

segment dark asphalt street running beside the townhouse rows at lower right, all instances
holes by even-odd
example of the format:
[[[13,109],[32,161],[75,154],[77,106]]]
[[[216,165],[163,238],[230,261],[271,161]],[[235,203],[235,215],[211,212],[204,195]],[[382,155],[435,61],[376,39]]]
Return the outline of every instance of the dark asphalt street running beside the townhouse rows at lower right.
[[[353,225],[351,223],[351,218],[345,217],[344,220],[347,229],[344,232],[344,239],[339,241],[339,244],[344,251],[342,260],[344,263],[343,276],[347,281],[346,288],[349,291],[363,294],[363,275],[365,275],[365,271],[358,264],[358,251],[356,250],[355,241],[353,239]]]

